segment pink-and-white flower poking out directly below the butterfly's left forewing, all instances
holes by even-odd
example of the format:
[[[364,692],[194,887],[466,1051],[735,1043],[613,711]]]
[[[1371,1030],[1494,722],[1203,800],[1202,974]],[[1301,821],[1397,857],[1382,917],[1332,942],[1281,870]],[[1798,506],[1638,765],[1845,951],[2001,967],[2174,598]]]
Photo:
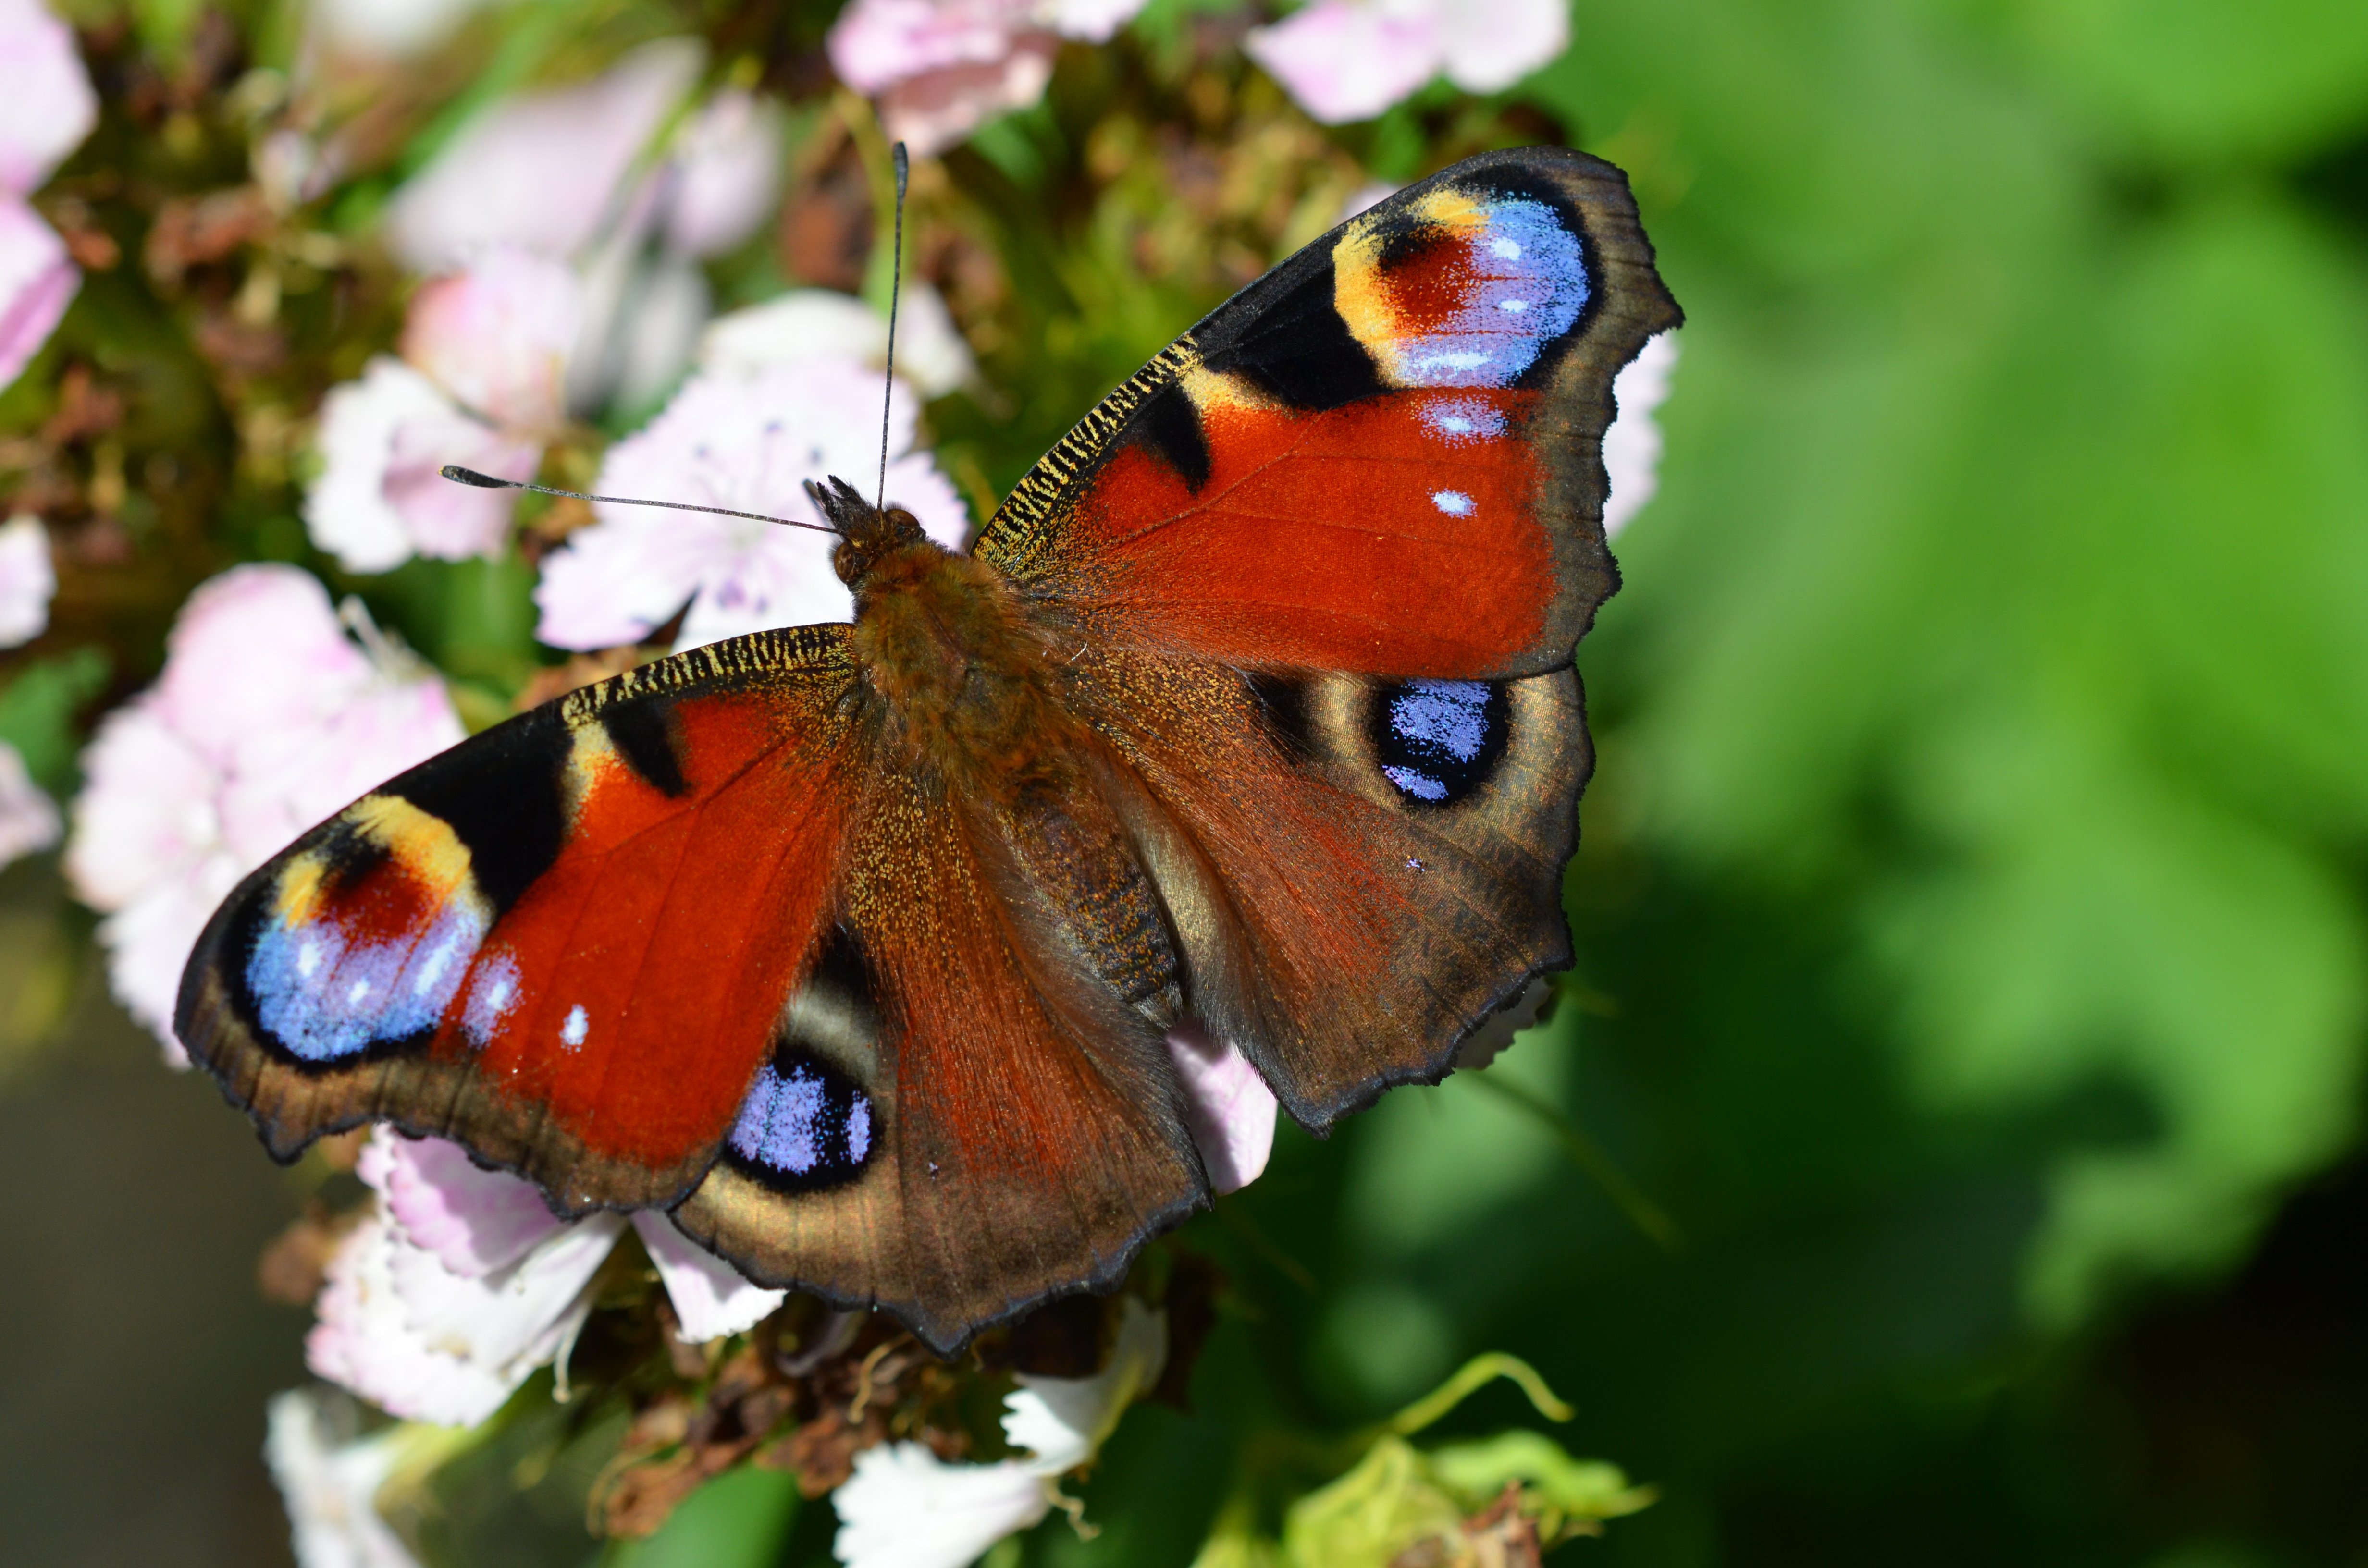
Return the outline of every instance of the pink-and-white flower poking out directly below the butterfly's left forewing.
[[[530,1182],[384,1127],[358,1172],[379,1210],[329,1262],[305,1360],[391,1414],[474,1426],[566,1355],[628,1220],[556,1220]],[[639,1213],[632,1227],[684,1338],[741,1334],[781,1305],[781,1291],[748,1284],[665,1215]]]

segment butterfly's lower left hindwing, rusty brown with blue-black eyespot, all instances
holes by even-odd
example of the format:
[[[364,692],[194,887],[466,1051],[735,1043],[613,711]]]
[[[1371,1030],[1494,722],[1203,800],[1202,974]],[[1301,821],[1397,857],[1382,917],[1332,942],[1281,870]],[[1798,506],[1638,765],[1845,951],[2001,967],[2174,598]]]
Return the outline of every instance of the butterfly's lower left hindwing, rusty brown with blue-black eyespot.
[[[879,779],[845,924],[675,1220],[940,1352],[1108,1289],[1205,1201],[1160,1030],[1077,966],[973,805]]]

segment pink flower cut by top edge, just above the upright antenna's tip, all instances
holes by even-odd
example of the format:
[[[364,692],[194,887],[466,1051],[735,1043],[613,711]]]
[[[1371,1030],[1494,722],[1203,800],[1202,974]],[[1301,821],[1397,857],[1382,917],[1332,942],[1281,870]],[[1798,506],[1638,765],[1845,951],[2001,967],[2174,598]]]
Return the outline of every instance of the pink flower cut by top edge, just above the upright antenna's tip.
[[[1144,0],[855,0],[831,69],[881,102],[890,137],[926,156],[1044,97],[1063,38],[1106,43]]]

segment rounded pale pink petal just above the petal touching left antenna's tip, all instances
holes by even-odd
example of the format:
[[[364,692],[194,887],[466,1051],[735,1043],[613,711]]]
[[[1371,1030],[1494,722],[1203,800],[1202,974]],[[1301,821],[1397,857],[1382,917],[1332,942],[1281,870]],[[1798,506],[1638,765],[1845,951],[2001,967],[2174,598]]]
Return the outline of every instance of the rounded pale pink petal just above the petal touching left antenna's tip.
[[[540,431],[566,417],[580,332],[575,272],[504,244],[412,296],[403,358],[493,424]]]

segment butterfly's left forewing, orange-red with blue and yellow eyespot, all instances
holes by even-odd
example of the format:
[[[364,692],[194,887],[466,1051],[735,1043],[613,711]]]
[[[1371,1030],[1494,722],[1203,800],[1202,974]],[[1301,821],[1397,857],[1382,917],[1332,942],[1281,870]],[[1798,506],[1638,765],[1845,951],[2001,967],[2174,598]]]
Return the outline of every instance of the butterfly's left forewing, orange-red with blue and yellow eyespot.
[[[713,1163],[843,879],[845,628],[694,649],[478,734],[249,876],[189,1054],[282,1158],[391,1120],[564,1208]]]

